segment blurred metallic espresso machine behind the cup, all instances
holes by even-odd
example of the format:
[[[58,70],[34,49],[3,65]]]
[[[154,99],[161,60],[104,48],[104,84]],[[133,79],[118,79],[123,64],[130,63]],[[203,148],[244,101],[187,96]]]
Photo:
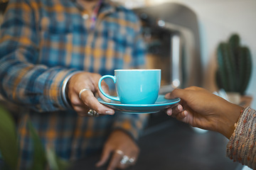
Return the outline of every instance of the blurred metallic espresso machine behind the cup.
[[[196,13],[183,4],[135,8],[147,47],[146,67],[161,69],[160,94],[201,86],[201,53]]]

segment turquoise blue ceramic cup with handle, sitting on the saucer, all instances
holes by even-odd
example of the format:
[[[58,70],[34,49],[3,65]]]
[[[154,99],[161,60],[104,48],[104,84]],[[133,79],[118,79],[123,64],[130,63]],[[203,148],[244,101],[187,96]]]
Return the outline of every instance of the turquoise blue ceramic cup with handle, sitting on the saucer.
[[[101,82],[105,78],[114,81],[117,96],[105,94]],[[114,76],[100,78],[99,89],[104,96],[122,104],[154,104],[159,96],[161,69],[115,69]]]

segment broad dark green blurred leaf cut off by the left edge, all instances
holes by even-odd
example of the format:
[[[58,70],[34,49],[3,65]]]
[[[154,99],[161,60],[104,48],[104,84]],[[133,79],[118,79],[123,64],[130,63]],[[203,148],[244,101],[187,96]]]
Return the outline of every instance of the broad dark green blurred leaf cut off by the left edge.
[[[18,142],[16,126],[10,113],[0,106],[0,150],[9,169],[16,170],[18,164]]]

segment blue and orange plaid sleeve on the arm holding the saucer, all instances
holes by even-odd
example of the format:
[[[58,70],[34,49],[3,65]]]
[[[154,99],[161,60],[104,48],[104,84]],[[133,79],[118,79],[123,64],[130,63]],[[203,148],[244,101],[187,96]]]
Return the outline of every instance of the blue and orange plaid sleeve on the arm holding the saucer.
[[[31,4],[9,1],[0,30],[0,92],[7,100],[38,112],[63,110],[63,80],[75,70],[38,64],[39,50]]]

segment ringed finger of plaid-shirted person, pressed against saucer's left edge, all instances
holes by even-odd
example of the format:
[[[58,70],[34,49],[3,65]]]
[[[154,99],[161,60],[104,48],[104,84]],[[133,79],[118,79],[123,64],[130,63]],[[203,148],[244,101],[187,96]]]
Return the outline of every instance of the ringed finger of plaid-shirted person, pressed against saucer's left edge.
[[[113,115],[114,110],[108,108],[107,106],[102,105],[97,98],[95,98],[92,91],[85,91],[81,95],[81,100],[85,103],[86,106],[92,108],[94,111],[100,114]]]

